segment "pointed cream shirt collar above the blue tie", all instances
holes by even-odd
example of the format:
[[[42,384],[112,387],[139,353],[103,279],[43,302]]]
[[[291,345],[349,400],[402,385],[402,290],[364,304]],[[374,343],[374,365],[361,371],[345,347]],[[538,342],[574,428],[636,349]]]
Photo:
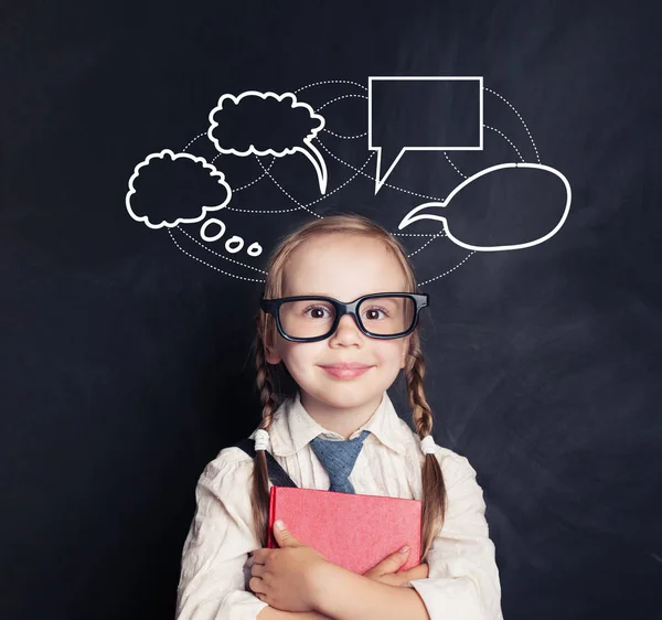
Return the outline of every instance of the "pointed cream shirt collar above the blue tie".
[[[406,430],[409,428],[399,419],[388,394],[384,392],[382,402],[371,418],[352,434],[357,436],[362,430],[370,430],[384,446],[398,455],[405,453]],[[269,431],[271,452],[278,457],[289,457],[298,452],[318,435],[329,439],[343,439],[337,432],[319,425],[301,405],[299,392],[287,398],[274,414]],[[253,436],[252,436],[253,437]],[[369,438],[370,439],[370,438]]]

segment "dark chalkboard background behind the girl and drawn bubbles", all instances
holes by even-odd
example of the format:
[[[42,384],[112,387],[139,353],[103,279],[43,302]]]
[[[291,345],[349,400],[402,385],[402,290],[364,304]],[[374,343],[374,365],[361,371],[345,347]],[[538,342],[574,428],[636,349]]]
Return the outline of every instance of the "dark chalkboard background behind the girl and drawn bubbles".
[[[169,234],[129,217],[135,167],[206,132],[223,94],[346,81],[300,93],[312,107],[354,95],[323,110],[345,138],[320,133],[339,159],[322,151],[329,195],[309,209],[397,232],[431,200],[407,192],[444,197],[462,178],[442,152],[407,152],[387,180],[407,192],[375,195],[376,153],[365,136],[346,138],[366,131],[372,75],[483,76],[536,150],[488,92],[485,125],[573,188],[567,222],[544,244],[463,261],[470,252],[438,236],[414,255],[421,281],[461,263],[424,286],[427,391],[438,442],[466,455],[483,487],[504,617],[660,617],[654,2],[26,0],[1,9],[0,50],[3,620],[172,617],[195,481],[258,420],[260,284],[234,276],[259,271],[204,249],[200,224]],[[470,121],[429,104],[415,119],[429,133]],[[383,121],[395,131],[407,119],[396,108]],[[496,131],[484,139],[483,152],[447,153],[463,174],[521,161]],[[202,136],[189,152],[216,151]],[[269,164],[281,185],[265,175],[233,195],[243,211],[223,212],[224,239],[264,247],[258,269],[278,235],[314,217],[296,207],[320,197],[303,156],[271,159],[215,163],[233,189]],[[457,229],[490,243],[558,218],[543,185],[513,191],[525,210],[494,211],[494,183],[465,201]],[[256,210],[285,213],[245,212]],[[414,253],[430,237],[401,238]],[[398,383],[407,417],[403,395]]]

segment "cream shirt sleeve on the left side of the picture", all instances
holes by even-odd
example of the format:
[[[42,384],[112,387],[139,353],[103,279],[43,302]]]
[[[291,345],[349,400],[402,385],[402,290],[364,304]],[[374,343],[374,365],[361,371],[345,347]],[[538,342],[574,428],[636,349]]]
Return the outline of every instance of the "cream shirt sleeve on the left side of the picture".
[[[248,554],[260,547],[250,524],[253,460],[226,448],[195,487],[195,515],[182,550],[177,620],[255,620],[268,607],[248,588]]]

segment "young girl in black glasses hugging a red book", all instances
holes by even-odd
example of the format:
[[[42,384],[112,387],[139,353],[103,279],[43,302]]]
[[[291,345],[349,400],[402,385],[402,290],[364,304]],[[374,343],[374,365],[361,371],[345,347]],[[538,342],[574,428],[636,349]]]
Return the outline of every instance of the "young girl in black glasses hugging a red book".
[[[364,217],[329,216],[287,236],[267,269],[256,456],[225,448],[197,482],[178,619],[502,619],[476,471],[433,439],[418,334],[427,296],[401,244]],[[403,368],[416,434],[386,393]],[[293,394],[281,397],[279,373],[293,380]],[[327,460],[334,449],[343,451]],[[299,488],[421,500],[424,562],[398,573],[408,552],[396,552],[356,575],[297,541],[287,524],[274,527],[279,548],[264,548],[265,450]]]

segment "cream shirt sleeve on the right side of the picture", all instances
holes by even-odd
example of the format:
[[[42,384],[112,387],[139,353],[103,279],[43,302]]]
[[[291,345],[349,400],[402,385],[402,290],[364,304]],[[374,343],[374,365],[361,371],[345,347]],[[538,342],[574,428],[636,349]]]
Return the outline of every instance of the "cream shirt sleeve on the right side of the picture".
[[[503,620],[495,549],[476,470],[455,452],[440,463],[447,489],[446,520],[425,558],[428,577],[409,585],[423,599],[430,620]]]

